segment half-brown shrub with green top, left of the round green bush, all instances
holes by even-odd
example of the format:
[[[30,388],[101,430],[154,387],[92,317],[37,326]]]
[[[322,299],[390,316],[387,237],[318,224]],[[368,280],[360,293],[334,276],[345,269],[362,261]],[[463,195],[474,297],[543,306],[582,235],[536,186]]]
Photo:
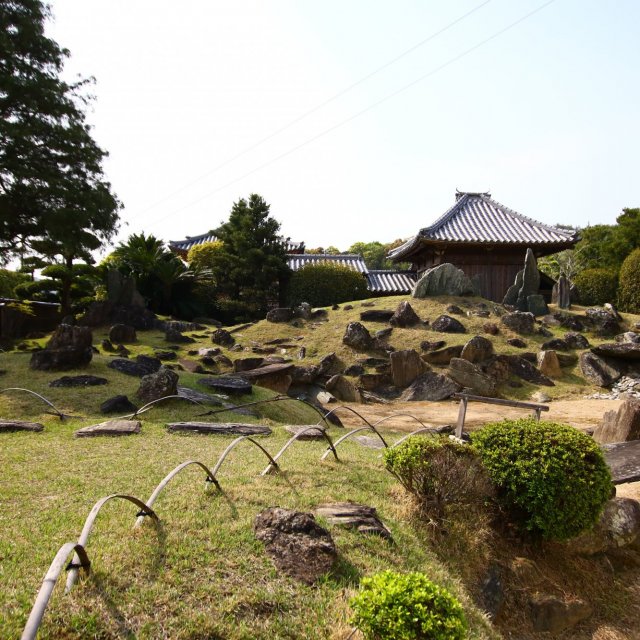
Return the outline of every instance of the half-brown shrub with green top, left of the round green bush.
[[[415,436],[384,454],[386,468],[438,518],[452,505],[482,504],[493,486],[473,447],[443,437]]]

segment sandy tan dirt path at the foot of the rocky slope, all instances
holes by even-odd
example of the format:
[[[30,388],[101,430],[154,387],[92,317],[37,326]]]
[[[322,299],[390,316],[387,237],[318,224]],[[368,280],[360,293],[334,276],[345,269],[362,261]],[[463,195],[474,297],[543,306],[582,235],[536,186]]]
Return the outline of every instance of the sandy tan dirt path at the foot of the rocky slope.
[[[617,409],[620,400],[556,400],[549,403],[549,412],[543,413],[543,420],[563,422],[577,429],[595,427],[605,411]],[[376,422],[394,414],[407,413],[415,416],[427,426],[455,424],[458,418],[459,402],[394,402],[392,404],[350,404],[347,405],[357,411],[370,422]],[[480,402],[470,402],[467,408],[465,427],[473,429],[487,422],[503,420],[505,418],[522,418],[529,415],[524,409],[499,407]],[[353,413],[339,411],[338,416],[345,426],[355,427],[362,424],[362,420]],[[393,431],[413,431],[418,425],[415,419],[398,416],[386,420],[384,426]]]

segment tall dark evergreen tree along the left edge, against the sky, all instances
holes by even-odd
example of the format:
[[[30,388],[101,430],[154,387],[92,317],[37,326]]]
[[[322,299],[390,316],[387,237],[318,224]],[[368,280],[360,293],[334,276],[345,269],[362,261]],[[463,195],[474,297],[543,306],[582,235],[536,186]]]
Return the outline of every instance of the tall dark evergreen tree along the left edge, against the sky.
[[[60,78],[69,52],[49,17],[41,0],[0,0],[0,249],[70,271],[113,237],[120,203],[85,118],[91,80]]]

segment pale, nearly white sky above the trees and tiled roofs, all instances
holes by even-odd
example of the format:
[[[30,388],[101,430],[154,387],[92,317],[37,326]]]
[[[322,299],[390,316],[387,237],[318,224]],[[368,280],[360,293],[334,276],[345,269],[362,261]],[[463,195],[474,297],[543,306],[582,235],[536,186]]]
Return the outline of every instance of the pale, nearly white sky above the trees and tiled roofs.
[[[118,240],[258,193],[307,247],[389,242],[456,189],[548,224],[640,206],[637,0],[52,0]]]

